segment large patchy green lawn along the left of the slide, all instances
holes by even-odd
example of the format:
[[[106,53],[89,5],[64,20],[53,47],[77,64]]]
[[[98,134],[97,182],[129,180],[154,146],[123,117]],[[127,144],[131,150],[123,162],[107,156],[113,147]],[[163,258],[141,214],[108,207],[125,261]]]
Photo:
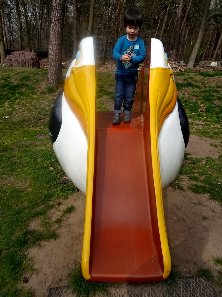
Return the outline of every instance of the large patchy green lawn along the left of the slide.
[[[0,67],[1,297],[31,296],[22,285],[24,274],[33,270],[28,249],[58,238],[59,224],[48,212],[78,191],[72,183],[61,184],[64,172],[48,136],[58,91],[47,88],[46,78],[46,69]],[[63,217],[73,210],[67,206]],[[38,229],[30,230],[33,219],[39,221]]]

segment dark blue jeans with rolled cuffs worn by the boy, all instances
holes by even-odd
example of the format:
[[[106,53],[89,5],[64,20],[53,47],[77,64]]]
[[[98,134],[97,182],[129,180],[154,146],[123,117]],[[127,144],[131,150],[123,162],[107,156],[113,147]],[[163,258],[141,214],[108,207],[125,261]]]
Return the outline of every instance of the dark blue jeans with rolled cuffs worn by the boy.
[[[131,108],[133,107],[133,97],[136,91],[136,83],[138,80],[138,74],[133,73],[130,75],[115,74],[116,87],[115,87],[115,100],[113,113],[131,114]],[[124,99],[124,102],[123,102]]]

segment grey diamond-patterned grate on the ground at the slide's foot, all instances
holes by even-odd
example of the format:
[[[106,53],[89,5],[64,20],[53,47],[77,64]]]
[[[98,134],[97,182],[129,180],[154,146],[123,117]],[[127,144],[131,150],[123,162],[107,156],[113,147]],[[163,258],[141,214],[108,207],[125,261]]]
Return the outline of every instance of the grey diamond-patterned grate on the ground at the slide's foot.
[[[72,297],[68,287],[49,290],[49,297]],[[144,284],[120,284],[110,289],[110,297],[217,297],[210,282],[205,277],[183,277],[177,287],[162,289],[162,286]]]

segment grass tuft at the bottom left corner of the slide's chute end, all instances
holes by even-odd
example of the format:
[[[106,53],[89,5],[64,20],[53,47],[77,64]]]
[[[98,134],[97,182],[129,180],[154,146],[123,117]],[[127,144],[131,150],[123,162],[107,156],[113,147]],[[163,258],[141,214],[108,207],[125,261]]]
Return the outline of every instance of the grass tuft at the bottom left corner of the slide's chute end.
[[[76,294],[76,297],[89,297],[97,295],[108,296],[112,283],[87,281],[82,275],[81,263],[77,263],[77,267],[72,269],[72,273],[69,276],[68,285],[71,292]]]

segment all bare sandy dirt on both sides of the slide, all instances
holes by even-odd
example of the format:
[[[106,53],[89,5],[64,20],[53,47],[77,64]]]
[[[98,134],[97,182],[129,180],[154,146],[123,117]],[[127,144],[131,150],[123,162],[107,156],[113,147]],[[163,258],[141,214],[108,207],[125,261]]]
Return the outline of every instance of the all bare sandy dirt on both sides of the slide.
[[[193,157],[216,158],[221,151],[210,143],[208,138],[191,135],[186,152]],[[180,192],[172,187],[163,190],[163,203],[172,263],[178,265],[183,276],[194,276],[198,267],[215,272],[211,259],[222,256],[221,205],[206,194]],[[81,192],[71,195],[62,207],[71,204],[75,211],[62,222],[60,237],[30,250],[36,273],[26,276],[26,286],[36,297],[47,297],[50,287],[67,285],[69,268],[75,267],[75,260],[81,260],[85,195]],[[51,216],[55,215],[52,212]],[[210,219],[203,220],[202,216]],[[218,296],[222,296],[221,292]]]

